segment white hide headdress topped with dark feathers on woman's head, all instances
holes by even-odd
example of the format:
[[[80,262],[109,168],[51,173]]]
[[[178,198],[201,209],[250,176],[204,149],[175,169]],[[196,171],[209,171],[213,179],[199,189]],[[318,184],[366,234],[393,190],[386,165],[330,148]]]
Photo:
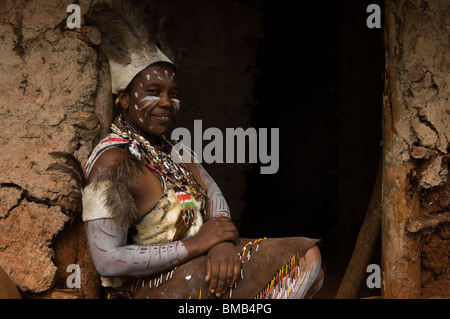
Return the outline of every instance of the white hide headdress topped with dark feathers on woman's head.
[[[151,38],[142,2],[136,5],[113,0],[97,4],[86,14],[85,20],[102,35],[100,50],[108,58],[113,94],[125,89],[136,74],[150,64],[173,63]]]

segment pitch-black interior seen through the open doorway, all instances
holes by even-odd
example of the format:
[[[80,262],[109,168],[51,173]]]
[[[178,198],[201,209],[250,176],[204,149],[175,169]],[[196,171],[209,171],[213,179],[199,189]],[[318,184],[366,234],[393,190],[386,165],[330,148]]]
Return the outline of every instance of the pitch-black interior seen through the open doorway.
[[[248,174],[241,236],[321,238],[331,298],[381,151],[383,29],[367,27],[368,4],[264,2],[252,126],[280,128],[280,166],[274,175],[258,165]]]

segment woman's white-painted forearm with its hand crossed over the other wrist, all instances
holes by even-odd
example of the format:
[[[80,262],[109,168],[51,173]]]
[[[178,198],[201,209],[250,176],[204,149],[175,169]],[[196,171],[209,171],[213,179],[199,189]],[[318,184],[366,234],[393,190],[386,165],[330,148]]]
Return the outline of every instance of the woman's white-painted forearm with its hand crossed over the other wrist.
[[[189,239],[158,245],[127,245],[128,230],[113,219],[85,222],[89,249],[97,272],[104,277],[150,276],[196,256],[223,241],[236,241],[237,231],[225,217],[206,222]]]

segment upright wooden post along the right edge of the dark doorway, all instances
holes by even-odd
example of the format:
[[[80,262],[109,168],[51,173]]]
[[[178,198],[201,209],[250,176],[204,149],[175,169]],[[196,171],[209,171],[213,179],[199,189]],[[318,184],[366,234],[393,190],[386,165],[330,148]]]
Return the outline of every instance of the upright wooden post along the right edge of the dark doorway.
[[[407,230],[408,220],[419,209],[417,195],[407,194],[414,165],[408,151],[411,117],[403,99],[402,45],[400,36],[405,1],[386,1],[385,92],[383,97],[382,172],[382,297],[420,296],[420,247]]]

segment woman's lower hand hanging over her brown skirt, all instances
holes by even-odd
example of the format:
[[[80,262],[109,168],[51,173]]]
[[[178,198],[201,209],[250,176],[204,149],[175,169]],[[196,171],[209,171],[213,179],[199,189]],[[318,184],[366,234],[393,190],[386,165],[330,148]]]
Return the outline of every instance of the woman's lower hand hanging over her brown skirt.
[[[223,242],[212,247],[206,258],[206,281],[211,293],[223,295],[239,278],[240,261],[234,244]]]

